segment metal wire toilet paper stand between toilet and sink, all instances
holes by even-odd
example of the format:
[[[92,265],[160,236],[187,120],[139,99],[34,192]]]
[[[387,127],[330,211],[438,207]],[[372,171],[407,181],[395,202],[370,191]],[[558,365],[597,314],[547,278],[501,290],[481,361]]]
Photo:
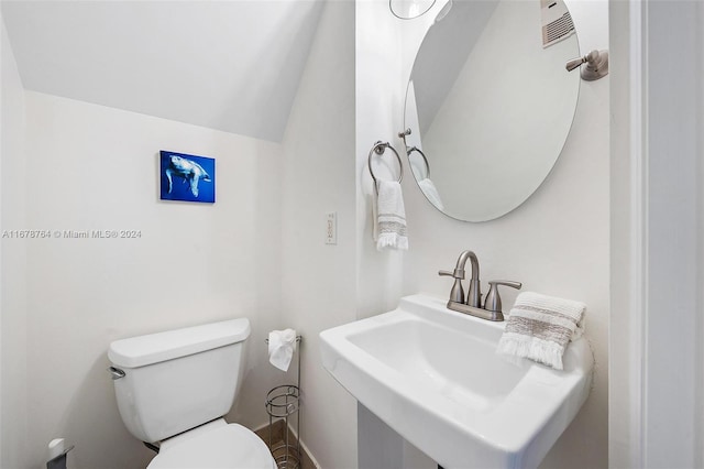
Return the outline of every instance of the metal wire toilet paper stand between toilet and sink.
[[[302,337],[296,336],[296,349]],[[266,339],[268,343],[268,339]],[[266,393],[266,412],[268,413],[268,447],[279,469],[297,469],[300,467],[300,351],[297,351],[296,384],[282,384]],[[296,421],[295,441],[290,438],[292,419]],[[274,422],[284,421],[284,439],[276,446],[273,441]]]

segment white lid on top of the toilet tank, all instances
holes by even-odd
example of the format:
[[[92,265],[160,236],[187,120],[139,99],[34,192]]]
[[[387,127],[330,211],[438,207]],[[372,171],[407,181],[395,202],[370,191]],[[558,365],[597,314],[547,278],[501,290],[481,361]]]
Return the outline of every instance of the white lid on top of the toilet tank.
[[[148,334],[113,341],[108,358],[118,367],[145,367],[243,341],[250,330],[249,319],[239,318]]]

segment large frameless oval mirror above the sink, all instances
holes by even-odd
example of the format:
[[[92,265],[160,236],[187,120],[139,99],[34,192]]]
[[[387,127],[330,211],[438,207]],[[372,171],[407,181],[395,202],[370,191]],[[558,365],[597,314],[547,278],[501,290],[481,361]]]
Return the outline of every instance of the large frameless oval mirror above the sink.
[[[406,92],[409,164],[436,208],[492,220],[530,197],[562,151],[580,88],[565,70],[576,34],[562,0],[450,0],[441,13]]]

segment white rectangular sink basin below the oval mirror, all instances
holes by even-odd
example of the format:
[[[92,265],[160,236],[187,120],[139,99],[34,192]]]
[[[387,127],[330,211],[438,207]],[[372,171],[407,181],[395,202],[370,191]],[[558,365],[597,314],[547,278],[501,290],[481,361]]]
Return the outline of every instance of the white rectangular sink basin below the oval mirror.
[[[453,468],[537,467],[586,400],[593,356],[570,343],[564,370],[496,355],[505,323],[426,295],[320,334],[334,379],[389,427]]]

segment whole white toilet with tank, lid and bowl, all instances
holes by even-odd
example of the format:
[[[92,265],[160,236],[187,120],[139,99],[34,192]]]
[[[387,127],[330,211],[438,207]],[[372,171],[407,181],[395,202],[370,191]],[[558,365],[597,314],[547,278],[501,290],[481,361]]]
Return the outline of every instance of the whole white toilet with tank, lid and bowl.
[[[240,390],[249,336],[250,321],[239,318],[110,343],[122,422],[158,446],[148,469],[276,468],[261,438],[223,418]]]

